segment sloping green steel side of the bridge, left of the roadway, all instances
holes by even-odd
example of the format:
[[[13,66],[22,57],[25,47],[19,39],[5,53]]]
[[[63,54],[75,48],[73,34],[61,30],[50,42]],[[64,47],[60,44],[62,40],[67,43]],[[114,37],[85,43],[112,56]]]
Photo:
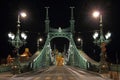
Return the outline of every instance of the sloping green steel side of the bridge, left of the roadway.
[[[30,61],[30,68],[35,70],[42,67],[47,67],[52,62],[51,47],[49,44],[45,44],[41,51],[36,53],[35,58]]]

